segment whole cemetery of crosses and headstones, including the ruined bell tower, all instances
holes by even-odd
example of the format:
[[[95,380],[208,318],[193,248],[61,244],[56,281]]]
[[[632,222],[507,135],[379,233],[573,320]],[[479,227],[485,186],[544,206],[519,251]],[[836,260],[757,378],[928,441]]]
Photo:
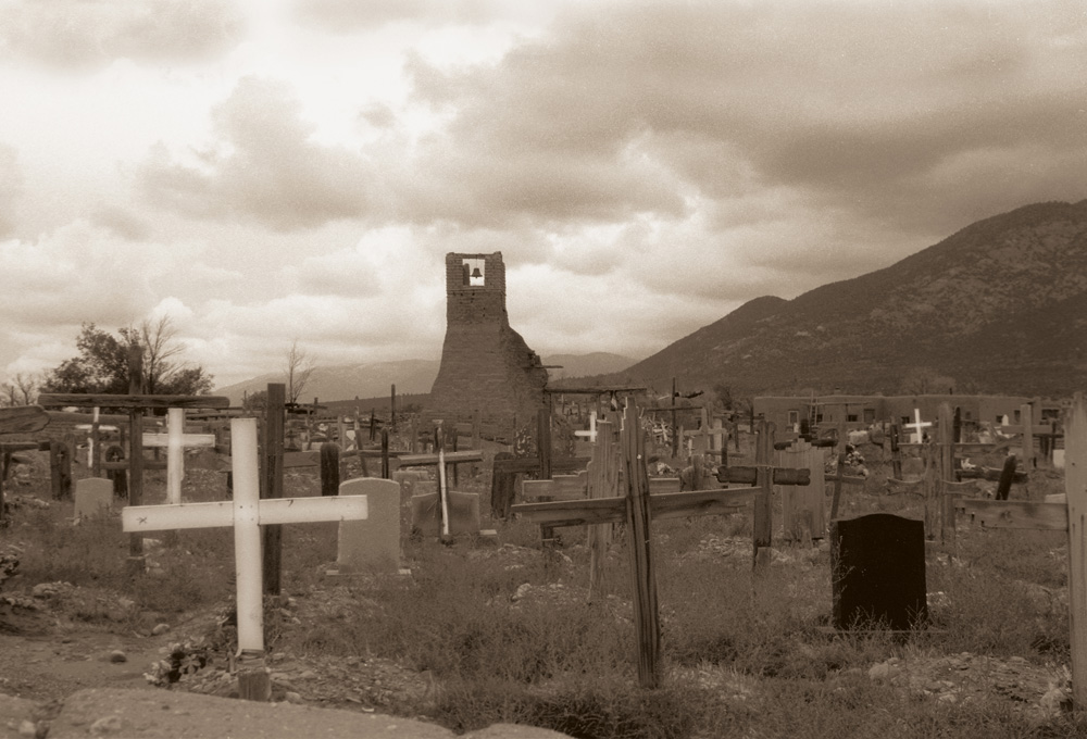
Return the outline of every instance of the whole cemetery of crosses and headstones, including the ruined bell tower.
[[[122,689],[249,701],[250,730],[1085,735],[1082,394],[982,439],[964,421],[1005,401],[873,405],[854,436],[551,388],[502,270],[448,255],[421,413],[292,424],[280,384],[259,412],[136,384],[0,409],[12,736],[141,736],[95,713]]]

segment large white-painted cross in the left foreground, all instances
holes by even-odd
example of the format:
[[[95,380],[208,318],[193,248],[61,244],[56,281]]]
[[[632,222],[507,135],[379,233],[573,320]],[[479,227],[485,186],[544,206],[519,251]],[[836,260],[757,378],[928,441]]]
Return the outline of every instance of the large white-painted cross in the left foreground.
[[[367,516],[366,496],[260,499],[257,419],[232,418],[234,500],[179,505],[129,505],[121,511],[126,531],[234,526],[238,587],[238,652],[264,651],[261,526]]]

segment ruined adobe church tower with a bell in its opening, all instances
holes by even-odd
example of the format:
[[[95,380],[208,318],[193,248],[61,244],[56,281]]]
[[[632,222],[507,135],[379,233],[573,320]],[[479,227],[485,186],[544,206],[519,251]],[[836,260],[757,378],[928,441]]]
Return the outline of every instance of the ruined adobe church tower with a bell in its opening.
[[[544,403],[547,379],[510,326],[502,252],[446,254],[446,340],[426,415],[450,423],[478,412],[512,437]]]

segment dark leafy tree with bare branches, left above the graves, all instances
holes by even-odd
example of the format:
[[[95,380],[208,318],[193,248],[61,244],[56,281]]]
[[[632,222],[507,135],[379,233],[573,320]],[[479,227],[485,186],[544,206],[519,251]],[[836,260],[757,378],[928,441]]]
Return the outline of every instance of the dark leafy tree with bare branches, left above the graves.
[[[76,348],[79,355],[64,360],[50,371],[43,392],[95,392],[125,394],[128,392],[128,348],[139,346],[143,353],[142,386],[150,394],[196,396],[211,391],[212,377],[203,367],[171,361],[182,352],[174,340],[176,330],[168,316],[139,328],[128,326],[113,336],[95,326],[83,324]]]

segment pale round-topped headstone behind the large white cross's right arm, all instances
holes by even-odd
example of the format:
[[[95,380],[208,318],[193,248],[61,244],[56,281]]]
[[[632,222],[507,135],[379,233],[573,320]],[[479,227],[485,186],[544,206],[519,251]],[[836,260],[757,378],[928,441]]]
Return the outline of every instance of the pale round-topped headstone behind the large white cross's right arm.
[[[398,572],[400,486],[379,477],[359,477],[340,484],[339,494],[366,496],[367,517],[340,522],[336,564],[352,572]]]

